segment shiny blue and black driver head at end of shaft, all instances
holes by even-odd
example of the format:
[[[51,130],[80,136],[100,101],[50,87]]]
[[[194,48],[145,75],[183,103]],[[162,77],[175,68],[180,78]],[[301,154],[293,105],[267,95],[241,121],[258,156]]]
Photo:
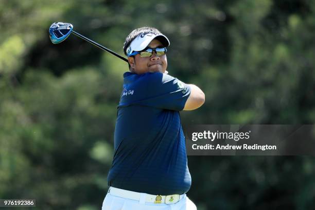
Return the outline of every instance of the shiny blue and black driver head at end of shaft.
[[[72,24],[55,22],[49,27],[49,37],[51,42],[58,44],[67,39],[73,29]]]

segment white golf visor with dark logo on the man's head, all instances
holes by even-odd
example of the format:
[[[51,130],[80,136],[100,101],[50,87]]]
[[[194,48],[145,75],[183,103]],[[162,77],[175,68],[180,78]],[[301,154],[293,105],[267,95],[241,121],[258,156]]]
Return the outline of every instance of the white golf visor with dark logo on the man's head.
[[[129,55],[131,55],[134,51],[141,51],[145,49],[153,39],[159,40],[164,47],[168,47],[170,44],[167,37],[165,37],[162,33],[141,33],[130,43],[129,47],[127,47],[127,56],[129,57]]]

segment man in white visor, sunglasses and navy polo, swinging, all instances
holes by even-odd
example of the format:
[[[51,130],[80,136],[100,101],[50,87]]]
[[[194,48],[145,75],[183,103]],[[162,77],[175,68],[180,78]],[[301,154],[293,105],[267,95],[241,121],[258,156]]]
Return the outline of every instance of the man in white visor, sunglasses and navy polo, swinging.
[[[124,43],[124,74],[114,134],[110,189],[102,209],[193,210],[179,111],[195,110],[204,93],[166,71],[169,40],[158,29],[133,30]]]

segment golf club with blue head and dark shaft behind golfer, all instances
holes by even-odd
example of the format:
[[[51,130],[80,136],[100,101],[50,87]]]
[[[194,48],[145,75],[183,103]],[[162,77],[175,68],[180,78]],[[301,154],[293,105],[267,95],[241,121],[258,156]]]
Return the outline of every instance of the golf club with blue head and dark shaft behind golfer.
[[[49,27],[49,37],[51,42],[53,42],[54,44],[58,44],[62,41],[64,41],[65,39],[67,39],[67,37],[70,35],[70,33],[74,33],[76,36],[80,37],[81,39],[84,39],[85,41],[90,42],[91,44],[94,44],[95,46],[108,51],[109,53],[111,53],[114,56],[117,56],[118,58],[126,61],[128,63],[128,60],[118,54],[116,54],[114,51],[82,36],[80,33],[76,32],[73,30],[73,25],[70,23],[63,23],[63,22],[55,22],[53,24],[51,24],[51,26]]]

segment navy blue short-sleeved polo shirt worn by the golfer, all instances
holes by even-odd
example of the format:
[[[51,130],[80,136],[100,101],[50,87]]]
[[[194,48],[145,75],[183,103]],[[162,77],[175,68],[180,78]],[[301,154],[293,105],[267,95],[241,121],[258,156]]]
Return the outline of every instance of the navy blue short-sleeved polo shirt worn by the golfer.
[[[189,190],[179,113],[189,94],[187,84],[167,74],[124,74],[109,186],[153,195]]]

